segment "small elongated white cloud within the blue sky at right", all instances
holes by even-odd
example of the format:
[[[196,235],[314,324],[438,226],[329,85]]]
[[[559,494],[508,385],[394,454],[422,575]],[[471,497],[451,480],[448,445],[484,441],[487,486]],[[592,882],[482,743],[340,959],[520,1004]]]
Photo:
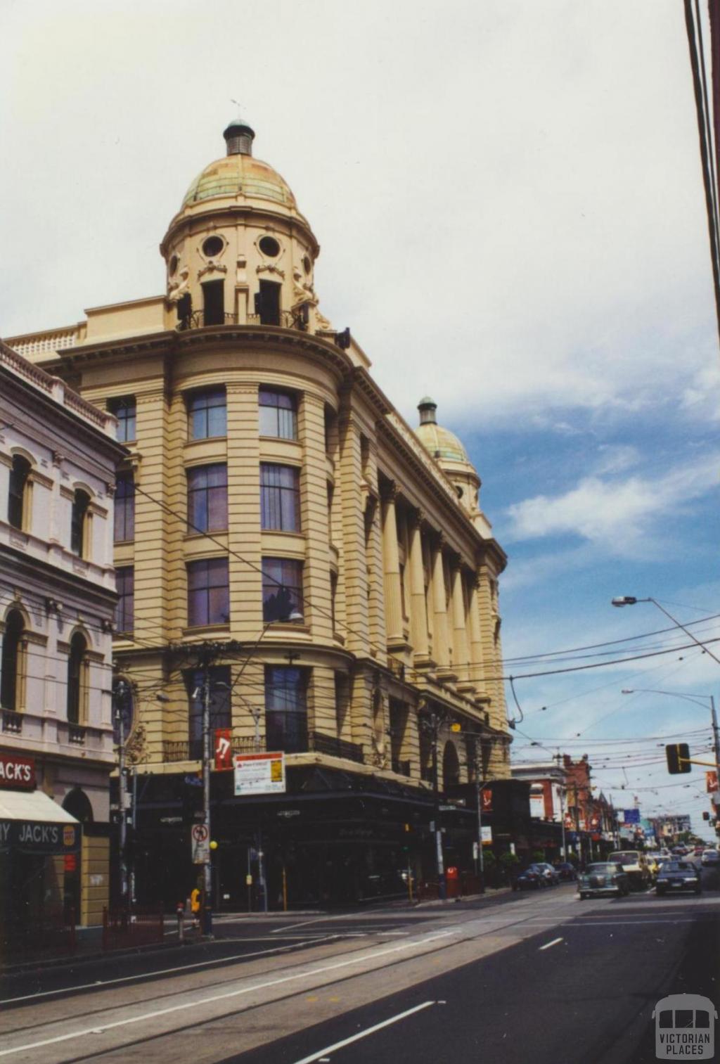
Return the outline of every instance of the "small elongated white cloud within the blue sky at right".
[[[609,553],[632,553],[655,518],[667,517],[716,485],[719,469],[720,455],[713,454],[656,479],[586,477],[563,495],[536,495],[509,506],[508,538],[575,535],[603,545]],[[647,548],[647,539],[643,545]]]

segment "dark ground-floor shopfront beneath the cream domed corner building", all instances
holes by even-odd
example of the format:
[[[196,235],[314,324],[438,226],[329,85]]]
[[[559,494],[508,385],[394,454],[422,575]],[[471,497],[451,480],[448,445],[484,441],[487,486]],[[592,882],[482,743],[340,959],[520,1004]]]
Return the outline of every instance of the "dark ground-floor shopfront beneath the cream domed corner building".
[[[216,911],[263,907],[263,854],[270,909],[344,905],[407,897],[436,878],[426,791],[373,776],[319,766],[287,769],[287,792],[235,798],[232,772],[213,774],[213,904]],[[201,791],[195,777],[149,776],[140,787],[135,843],[137,900],[168,909],[189,894],[190,826]],[[439,802],[446,866],[472,870],[473,811]],[[247,877],[252,877],[249,886]]]

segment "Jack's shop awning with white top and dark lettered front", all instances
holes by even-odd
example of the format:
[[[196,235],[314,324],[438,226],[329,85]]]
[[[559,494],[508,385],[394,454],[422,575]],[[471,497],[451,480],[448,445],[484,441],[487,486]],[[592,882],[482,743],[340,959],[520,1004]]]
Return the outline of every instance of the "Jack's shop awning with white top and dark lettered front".
[[[0,850],[76,853],[81,827],[43,791],[0,791]]]

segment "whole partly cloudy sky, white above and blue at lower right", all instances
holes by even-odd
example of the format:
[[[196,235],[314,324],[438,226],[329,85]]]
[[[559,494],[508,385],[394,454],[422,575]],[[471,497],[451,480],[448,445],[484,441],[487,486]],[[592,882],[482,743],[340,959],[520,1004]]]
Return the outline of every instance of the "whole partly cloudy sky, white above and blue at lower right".
[[[707,755],[720,664],[649,634],[672,629],[652,602],[609,604],[654,598],[720,637],[682,3],[4,0],[0,34],[0,335],[161,294],[158,244],[239,101],[320,242],[322,312],[411,425],[435,398],[482,477],[514,759],[588,753],[619,808],[691,812],[709,837],[703,769],[671,779],[660,741]]]

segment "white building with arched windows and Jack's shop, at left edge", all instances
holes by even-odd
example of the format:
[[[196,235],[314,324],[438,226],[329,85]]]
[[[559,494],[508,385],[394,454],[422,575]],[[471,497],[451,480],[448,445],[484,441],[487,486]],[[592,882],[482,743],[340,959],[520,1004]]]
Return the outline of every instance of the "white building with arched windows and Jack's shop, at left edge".
[[[113,415],[0,343],[0,943],[110,886]]]

